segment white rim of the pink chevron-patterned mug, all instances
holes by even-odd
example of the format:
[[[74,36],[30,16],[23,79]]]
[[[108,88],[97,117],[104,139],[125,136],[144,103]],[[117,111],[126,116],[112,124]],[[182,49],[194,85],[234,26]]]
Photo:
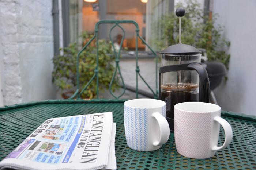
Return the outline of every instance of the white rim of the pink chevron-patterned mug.
[[[215,107],[211,110],[206,110],[206,111],[191,111],[189,109],[181,109],[179,107],[181,107],[182,105],[186,105],[186,104],[198,104],[201,106],[205,106],[205,105],[211,105],[212,107]],[[211,112],[218,112],[221,110],[221,107],[217,104],[212,104],[212,103],[206,103],[206,102],[198,102],[198,101],[189,101],[189,102],[182,102],[182,103],[177,103],[176,105],[174,105],[174,109],[178,109],[180,111],[184,111],[184,112],[192,112],[192,113],[211,113]]]

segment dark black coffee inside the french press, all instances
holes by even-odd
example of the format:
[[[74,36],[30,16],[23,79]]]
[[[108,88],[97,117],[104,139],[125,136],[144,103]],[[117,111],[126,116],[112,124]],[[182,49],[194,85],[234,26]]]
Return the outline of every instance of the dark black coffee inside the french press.
[[[198,101],[198,85],[192,83],[164,84],[161,86],[161,100],[166,103],[166,117],[170,130],[173,131],[174,105],[182,102]]]

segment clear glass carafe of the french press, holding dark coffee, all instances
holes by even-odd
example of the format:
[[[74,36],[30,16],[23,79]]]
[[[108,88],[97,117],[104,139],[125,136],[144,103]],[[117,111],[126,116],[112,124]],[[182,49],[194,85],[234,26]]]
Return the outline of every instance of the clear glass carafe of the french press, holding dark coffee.
[[[200,63],[201,54],[162,54],[161,67],[169,65]],[[166,116],[173,119],[174,105],[198,101],[199,76],[194,70],[178,70],[161,74],[161,100],[166,102]]]

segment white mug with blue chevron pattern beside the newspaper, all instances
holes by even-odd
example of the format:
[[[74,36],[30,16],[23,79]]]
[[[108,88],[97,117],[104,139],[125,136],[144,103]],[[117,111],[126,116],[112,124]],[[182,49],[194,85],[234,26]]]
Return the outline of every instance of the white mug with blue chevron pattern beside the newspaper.
[[[137,151],[154,151],[169,139],[166,103],[156,99],[134,99],[124,103],[127,145]]]

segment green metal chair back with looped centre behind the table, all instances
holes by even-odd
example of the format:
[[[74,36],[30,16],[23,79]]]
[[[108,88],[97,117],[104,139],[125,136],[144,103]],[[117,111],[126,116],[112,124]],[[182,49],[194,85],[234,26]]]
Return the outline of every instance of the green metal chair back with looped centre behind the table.
[[[113,42],[113,39],[111,37],[111,32],[112,30],[115,28],[115,27],[119,27],[121,28],[122,32],[123,32],[123,36],[122,36],[122,39],[121,39],[121,43],[120,43],[120,47],[122,47],[123,45],[123,40],[124,40],[124,37],[125,37],[125,31],[124,31],[124,28],[120,25],[120,24],[133,24],[135,26],[135,31],[136,31],[136,44],[135,44],[135,57],[136,57],[136,98],[138,98],[138,77],[140,77],[143,82],[147,85],[147,87],[150,89],[150,91],[153,93],[154,95],[154,98],[158,98],[158,78],[157,78],[157,62],[158,62],[158,57],[157,57],[157,54],[155,53],[155,51],[152,50],[152,48],[146,43],[146,41],[139,35],[139,26],[138,24],[133,21],[133,20],[101,20],[99,22],[96,23],[95,25],[95,30],[94,30],[94,35],[93,37],[86,43],[86,45],[84,45],[84,47],[79,51],[79,53],[77,54],[77,59],[76,59],[76,78],[77,78],[77,86],[76,86],[76,91],[75,93],[69,98],[69,99],[73,99],[73,98],[80,98],[81,97],[81,94],[84,92],[84,90],[86,90],[86,88],[90,85],[90,83],[96,78],[96,94],[97,94],[97,98],[99,98],[99,76],[98,76],[98,67],[99,67],[99,64],[98,64],[98,60],[99,60],[99,55],[98,55],[98,32],[99,32],[99,25],[100,24],[114,24],[110,31],[109,31],[109,38],[110,38],[110,41],[112,43],[112,47],[113,47],[113,50],[114,50],[114,57],[115,57],[115,69],[114,69],[114,73],[113,73],[113,76],[112,76],[112,79],[110,81],[110,84],[109,84],[109,92],[110,94],[118,99],[120,98],[121,96],[123,96],[123,94],[125,93],[125,84],[124,84],[124,80],[123,80],[123,76],[121,74],[121,71],[120,71],[120,65],[119,65],[119,61],[120,61],[120,52],[121,52],[121,48],[117,51],[114,47],[114,42]],[[139,65],[138,65],[138,38],[140,40],[142,40],[142,42],[148,47],[148,49],[150,49],[152,51],[152,53],[155,55],[155,85],[156,85],[156,89],[153,90],[149,85],[148,83],[146,82],[146,80],[141,76],[140,74],[140,69],[139,69]],[[79,90],[80,87],[79,87],[79,55],[84,51],[86,50],[86,47],[88,45],[90,45],[90,43],[93,41],[93,40],[96,40],[96,67],[95,67],[95,70],[94,70],[94,74],[93,76],[91,77],[91,79],[89,80],[89,82],[87,82],[87,84],[82,88],[82,90]],[[114,78],[117,74],[117,71],[119,72],[120,74],[120,78],[121,78],[121,82],[122,82],[122,85],[123,85],[123,92],[119,95],[119,96],[116,96],[113,94],[112,90],[111,90],[111,87],[112,87],[112,84],[113,84],[113,81],[114,81]]]

